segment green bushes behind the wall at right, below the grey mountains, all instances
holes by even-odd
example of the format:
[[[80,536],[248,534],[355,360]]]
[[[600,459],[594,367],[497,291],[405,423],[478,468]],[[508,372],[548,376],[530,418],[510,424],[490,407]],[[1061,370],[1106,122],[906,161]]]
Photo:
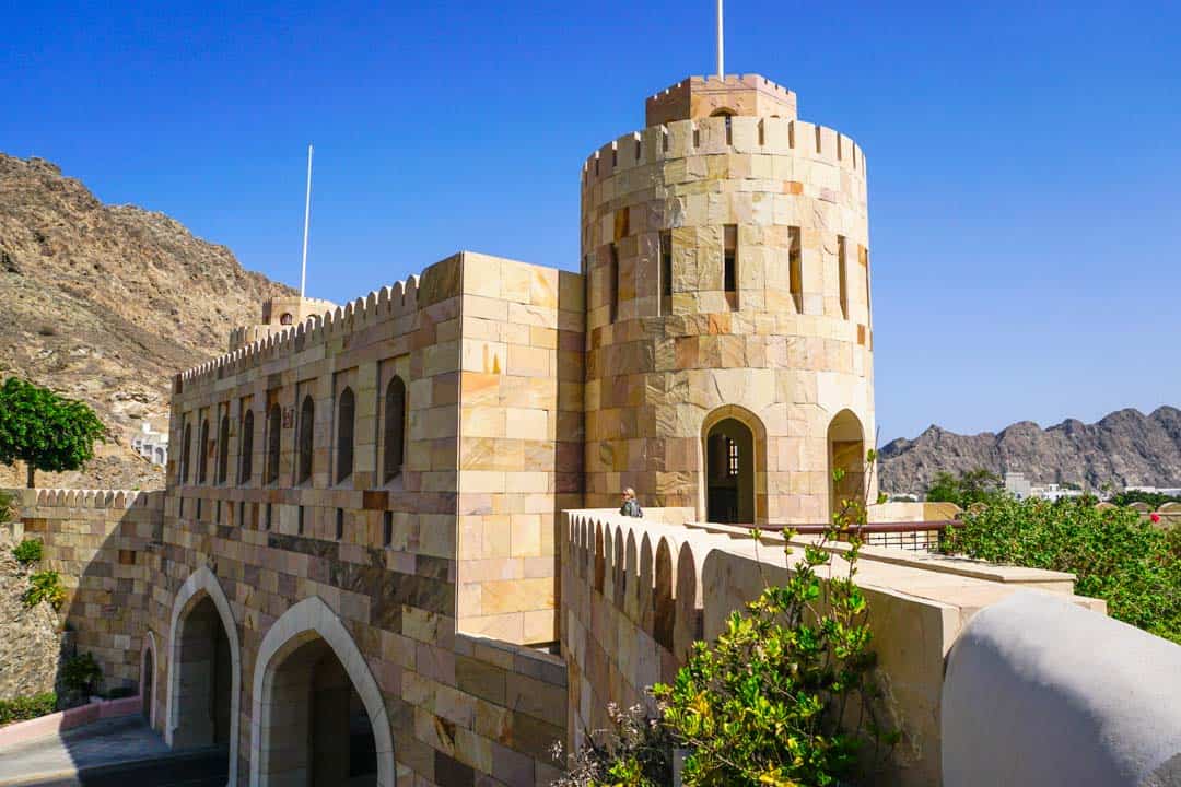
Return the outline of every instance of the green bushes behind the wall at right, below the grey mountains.
[[[966,512],[944,551],[1069,571],[1075,591],[1104,599],[1111,617],[1181,643],[1181,529],[1162,531],[1134,510],[1003,498]]]

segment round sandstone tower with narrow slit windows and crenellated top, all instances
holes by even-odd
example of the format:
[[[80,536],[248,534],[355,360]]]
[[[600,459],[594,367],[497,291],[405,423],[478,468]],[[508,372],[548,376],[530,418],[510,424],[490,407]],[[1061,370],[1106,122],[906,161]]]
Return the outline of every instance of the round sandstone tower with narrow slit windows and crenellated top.
[[[686,79],[582,171],[586,493],[820,523],[868,491],[866,160],[764,79]],[[835,484],[833,470],[846,470]]]

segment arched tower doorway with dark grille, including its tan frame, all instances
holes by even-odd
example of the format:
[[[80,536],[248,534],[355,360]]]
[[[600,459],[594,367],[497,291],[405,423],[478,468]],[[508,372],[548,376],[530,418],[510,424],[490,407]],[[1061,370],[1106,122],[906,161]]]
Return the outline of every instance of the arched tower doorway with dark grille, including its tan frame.
[[[737,405],[710,413],[702,425],[699,511],[706,522],[766,520],[766,431]]]

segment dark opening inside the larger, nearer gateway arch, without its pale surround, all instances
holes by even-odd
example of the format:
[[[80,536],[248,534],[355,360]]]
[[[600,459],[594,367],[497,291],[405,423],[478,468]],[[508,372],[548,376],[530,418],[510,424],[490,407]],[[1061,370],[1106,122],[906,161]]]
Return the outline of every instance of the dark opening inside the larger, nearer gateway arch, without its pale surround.
[[[378,783],[373,726],[344,664],[322,637],[279,660],[263,686],[263,702],[274,716],[263,730],[261,783]]]

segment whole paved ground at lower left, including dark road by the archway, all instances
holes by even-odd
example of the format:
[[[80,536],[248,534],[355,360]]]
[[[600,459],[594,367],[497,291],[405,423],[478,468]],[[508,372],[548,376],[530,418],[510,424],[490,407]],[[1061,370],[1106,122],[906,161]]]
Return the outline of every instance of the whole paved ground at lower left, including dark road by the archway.
[[[223,750],[171,753],[143,719],[130,716],[98,721],[60,735],[46,735],[0,749],[0,787],[204,787],[207,783],[224,783],[226,766]]]

